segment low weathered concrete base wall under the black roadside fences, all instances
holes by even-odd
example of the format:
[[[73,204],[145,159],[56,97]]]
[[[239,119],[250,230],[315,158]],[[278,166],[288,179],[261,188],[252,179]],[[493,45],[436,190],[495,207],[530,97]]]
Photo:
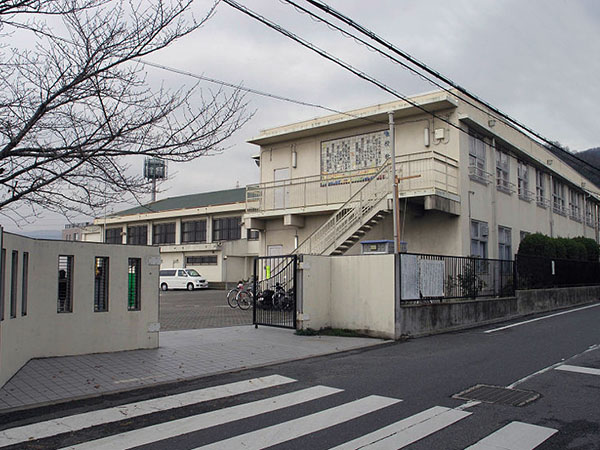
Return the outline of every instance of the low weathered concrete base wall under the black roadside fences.
[[[528,314],[600,300],[600,286],[517,291],[515,297],[400,307],[400,336],[426,336],[474,328]]]

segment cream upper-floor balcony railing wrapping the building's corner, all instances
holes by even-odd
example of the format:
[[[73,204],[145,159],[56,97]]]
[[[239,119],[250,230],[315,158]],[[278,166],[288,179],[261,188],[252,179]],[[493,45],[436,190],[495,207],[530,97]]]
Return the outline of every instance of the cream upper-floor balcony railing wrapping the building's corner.
[[[339,206],[354,196],[378,170],[356,170],[248,185],[246,211],[263,213]],[[400,177],[400,196],[440,192],[458,195],[458,162],[436,151],[399,155],[396,157],[396,171]]]

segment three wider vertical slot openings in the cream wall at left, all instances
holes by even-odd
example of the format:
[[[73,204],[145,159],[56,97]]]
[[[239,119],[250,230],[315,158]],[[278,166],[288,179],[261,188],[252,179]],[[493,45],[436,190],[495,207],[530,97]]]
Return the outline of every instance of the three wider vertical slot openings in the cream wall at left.
[[[56,311],[73,312],[73,255],[58,257],[58,298]],[[109,299],[109,258],[94,258],[94,312],[108,311]],[[140,289],[142,276],[142,259],[128,258],[127,263],[127,309],[139,311],[141,308]]]

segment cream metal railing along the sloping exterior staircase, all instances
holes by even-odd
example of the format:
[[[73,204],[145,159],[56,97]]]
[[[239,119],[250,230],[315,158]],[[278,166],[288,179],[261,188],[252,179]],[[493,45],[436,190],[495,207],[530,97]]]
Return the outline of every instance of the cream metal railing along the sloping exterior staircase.
[[[331,247],[335,246],[342,235],[369,220],[379,209],[381,201],[391,192],[392,163],[387,160],[368,183],[306,238],[292,254],[322,255],[328,250],[335,250],[335,247]]]

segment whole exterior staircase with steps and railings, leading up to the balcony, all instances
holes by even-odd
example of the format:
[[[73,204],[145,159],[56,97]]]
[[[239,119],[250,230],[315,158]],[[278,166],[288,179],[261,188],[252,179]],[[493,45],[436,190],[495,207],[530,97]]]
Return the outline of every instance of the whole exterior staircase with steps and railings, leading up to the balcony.
[[[388,160],[373,178],[308,238],[294,254],[342,255],[389,214],[392,168]]]

